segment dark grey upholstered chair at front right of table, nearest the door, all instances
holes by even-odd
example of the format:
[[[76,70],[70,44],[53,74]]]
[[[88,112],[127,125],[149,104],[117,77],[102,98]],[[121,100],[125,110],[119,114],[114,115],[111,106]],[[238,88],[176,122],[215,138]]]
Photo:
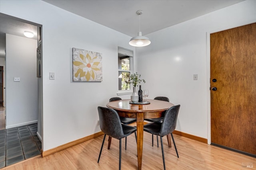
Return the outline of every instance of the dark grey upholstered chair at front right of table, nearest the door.
[[[164,170],[165,170],[165,161],[164,161],[164,147],[163,147],[162,137],[168,134],[172,135],[172,132],[176,128],[179,110],[180,110],[180,105],[172,106],[166,111],[163,122],[152,122],[144,125],[144,131],[151,133],[153,135],[160,136]],[[172,135],[172,141],[173,141],[177,156],[179,157],[173,135]]]

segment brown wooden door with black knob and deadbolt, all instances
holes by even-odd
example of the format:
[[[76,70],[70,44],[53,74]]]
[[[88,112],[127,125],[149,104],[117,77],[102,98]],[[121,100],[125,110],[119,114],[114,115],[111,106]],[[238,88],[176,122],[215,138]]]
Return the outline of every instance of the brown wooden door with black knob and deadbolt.
[[[211,143],[256,156],[256,23],[212,33],[210,58]]]

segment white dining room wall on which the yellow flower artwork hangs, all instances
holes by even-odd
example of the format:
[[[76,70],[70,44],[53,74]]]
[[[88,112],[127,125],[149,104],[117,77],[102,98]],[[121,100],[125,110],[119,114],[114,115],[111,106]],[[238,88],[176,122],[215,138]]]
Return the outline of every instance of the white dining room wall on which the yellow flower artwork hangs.
[[[97,106],[118,92],[118,46],[134,50],[131,37],[43,1],[1,0],[0,12],[42,24],[42,149],[99,132]],[[72,47],[102,53],[102,82],[72,82]]]

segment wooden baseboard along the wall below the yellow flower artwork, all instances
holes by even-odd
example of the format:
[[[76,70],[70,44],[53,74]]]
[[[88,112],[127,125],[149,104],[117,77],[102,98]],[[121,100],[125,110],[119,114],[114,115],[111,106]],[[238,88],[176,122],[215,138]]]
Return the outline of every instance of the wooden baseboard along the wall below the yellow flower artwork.
[[[49,149],[49,150],[46,150],[46,151],[41,150],[41,155],[42,155],[42,157],[49,156],[49,155],[54,154],[56,152],[59,152],[61,150],[64,150],[64,149],[67,149],[69,147],[73,147],[73,146],[78,145],[80,143],[83,143],[83,142],[89,141],[91,139],[94,139],[94,138],[96,138],[96,137],[98,137],[100,135],[104,135],[104,133],[102,131],[100,131],[98,133],[94,133],[92,135],[89,135],[87,137],[78,139],[76,141],[72,141],[70,143],[66,143],[64,145],[60,145],[60,146],[58,146],[56,148],[53,148],[53,149]]]

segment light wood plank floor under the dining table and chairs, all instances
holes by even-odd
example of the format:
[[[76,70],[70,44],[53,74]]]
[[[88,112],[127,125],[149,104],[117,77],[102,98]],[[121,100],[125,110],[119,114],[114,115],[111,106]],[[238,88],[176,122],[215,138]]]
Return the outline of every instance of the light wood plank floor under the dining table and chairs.
[[[100,162],[97,163],[98,154],[104,135],[62,150],[42,158],[37,156],[17,164],[7,166],[3,170],[116,170],[118,169],[119,142],[112,139],[110,150],[107,149],[107,137]],[[180,158],[177,158],[175,149],[168,147],[164,137],[164,154],[166,170],[255,170],[256,158],[237,152],[222,149],[206,143],[201,143],[174,135]],[[127,139],[127,150],[122,141],[122,170],[137,169],[136,141],[134,134]],[[144,132],[144,145],[142,156],[142,170],[162,170],[161,147],[154,147],[151,135]],[[160,141],[160,140],[159,140]],[[250,164],[253,168],[246,168]]]

